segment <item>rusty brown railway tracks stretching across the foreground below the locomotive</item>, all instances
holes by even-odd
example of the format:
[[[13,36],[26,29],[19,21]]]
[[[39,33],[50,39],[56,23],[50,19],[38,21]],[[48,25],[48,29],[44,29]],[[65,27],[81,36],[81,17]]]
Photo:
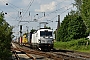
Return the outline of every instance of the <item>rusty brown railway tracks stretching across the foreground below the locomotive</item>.
[[[13,48],[12,51],[20,51],[22,54],[28,56],[28,59],[33,60],[90,60],[90,54],[82,54],[67,50],[53,50],[51,52],[32,50],[28,47],[19,46]],[[15,53],[17,54],[17,52]],[[18,54],[15,55],[18,57]],[[20,60],[20,58],[19,58]]]

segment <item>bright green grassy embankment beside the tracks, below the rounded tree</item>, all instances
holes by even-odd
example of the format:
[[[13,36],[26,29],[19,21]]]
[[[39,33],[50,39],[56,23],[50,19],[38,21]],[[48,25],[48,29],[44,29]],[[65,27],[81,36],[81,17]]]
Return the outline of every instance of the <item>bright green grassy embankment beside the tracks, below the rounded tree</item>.
[[[86,38],[81,38],[68,42],[55,42],[54,47],[57,49],[67,49],[90,53],[90,40]]]

